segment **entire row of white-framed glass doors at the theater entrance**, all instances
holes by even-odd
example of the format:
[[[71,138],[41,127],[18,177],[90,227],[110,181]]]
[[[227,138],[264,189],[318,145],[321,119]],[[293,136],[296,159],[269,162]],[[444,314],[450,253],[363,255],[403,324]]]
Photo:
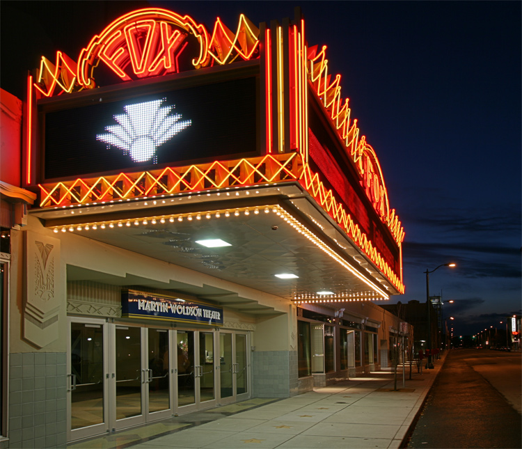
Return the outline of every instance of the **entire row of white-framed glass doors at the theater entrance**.
[[[68,441],[248,398],[246,333],[69,317]]]

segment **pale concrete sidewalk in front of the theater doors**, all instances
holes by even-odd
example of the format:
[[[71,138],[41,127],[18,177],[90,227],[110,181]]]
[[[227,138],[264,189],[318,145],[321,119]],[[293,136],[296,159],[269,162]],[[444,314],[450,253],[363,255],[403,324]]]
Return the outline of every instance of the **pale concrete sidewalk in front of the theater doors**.
[[[283,400],[252,399],[77,441],[68,448],[400,448],[443,359],[412,380],[402,367]],[[263,404],[264,403],[264,404]],[[248,446],[247,446],[248,447]]]

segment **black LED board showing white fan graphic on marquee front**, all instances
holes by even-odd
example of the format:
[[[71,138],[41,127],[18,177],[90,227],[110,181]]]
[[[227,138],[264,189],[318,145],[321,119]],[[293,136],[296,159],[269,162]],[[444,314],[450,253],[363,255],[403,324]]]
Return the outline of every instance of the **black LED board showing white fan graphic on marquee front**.
[[[44,178],[258,155],[257,86],[247,77],[44,111]]]

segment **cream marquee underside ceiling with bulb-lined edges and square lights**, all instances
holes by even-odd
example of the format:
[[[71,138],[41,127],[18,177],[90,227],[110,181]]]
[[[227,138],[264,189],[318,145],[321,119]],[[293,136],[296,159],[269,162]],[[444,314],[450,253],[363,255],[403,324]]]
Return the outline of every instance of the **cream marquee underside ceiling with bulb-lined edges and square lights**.
[[[225,216],[226,211],[230,216]],[[344,301],[387,299],[390,294],[397,294],[299,184],[31,213],[49,228],[65,228],[68,233],[285,299],[317,298],[319,290],[331,291],[337,295],[335,298]],[[178,220],[180,216],[182,221]],[[155,224],[151,217],[156,219]],[[146,225],[143,219],[147,220]],[[90,223],[89,230],[85,230],[85,223]],[[78,226],[82,226],[81,230],[77,230]],[[203,239],[222,239],[230,246],[207,248],[196,243]],[[299,277],[280,279],[276,274]],[[182,279],[172,279],[167,284],[136,276],[117,278],[68,266],[68,280],[143,285],[214,301],[242,313],[274,313],[274,308],[262,306],[262,301],[239,297],[230,289],[191,285]]]

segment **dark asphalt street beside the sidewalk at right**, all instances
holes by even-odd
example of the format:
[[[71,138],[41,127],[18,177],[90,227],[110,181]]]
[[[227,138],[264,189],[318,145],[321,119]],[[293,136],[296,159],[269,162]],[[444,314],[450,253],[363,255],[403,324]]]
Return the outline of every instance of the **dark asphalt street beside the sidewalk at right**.
[[[520,401],[520,362],[520,353],[452,349],[406,447],[522,448],[522,419],[514,407]],[[512,388],[503,394],[494,384]]]

